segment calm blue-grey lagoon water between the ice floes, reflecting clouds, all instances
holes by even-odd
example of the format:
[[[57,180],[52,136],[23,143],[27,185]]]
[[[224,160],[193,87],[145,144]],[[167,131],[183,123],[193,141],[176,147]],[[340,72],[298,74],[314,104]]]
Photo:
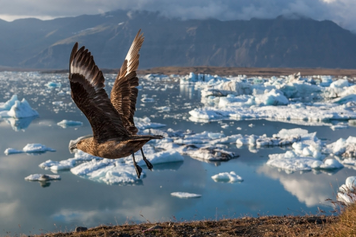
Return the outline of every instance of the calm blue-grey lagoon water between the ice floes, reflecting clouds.
[[[135,185],[107,185],[75,176],[70,171],[58,171],[59,181],[25,181],[30,174],[53,174],[38,165],[46,160],[73,157],[68,150],[69,141],[90,134],[91,128],[85,116],[74,103],[71,104],[67,74],[0,74],[0,102],[17,94],[40,115],[33,120],[0,120],[0,235],[72,231],[76,226],[120,225],[147,220],[318,214],[319,209],[333,210],[325,199],[336,199],[338,187],[347,177],[356,175],[352,167],[285,172],[266,162],[269,154],[284,153],[291,150],[291,146],[251,148],[232,143],[224,150],[239,154],[238,158],[203,162],[183,155],[183,162],[156,164],[152,172],[144,170],[146,177]],[[107,91],[111,90],[115,76],[105,75]],[[57,84],[46,85],[51,81]],[[156,82],[144,78],[140,78],[140,85],[135,117],[148,117],[151,122],[166,124],[162,130],[272,136],[283,128],[302,128],[309,133],[316,132],[326,143],[356,134],[353,126],[332,130],[328,125],[308,126],[266,119],[193,122],[188,112],[202,106],[200,90],[194,85],[180,85],[178,80]],[[142,102],[142,98],[152,98],[152,101],[143,99],[146,102]],[[171,109],[166,112],[155,109],[162,106]],[[83,125],[62,128],[57,123],[63,119],[80,121]],[[226,124],[229,126],[223,126]],[[21,150],[28,143],[41,143],[56,151],[32,155],[3,153],[8,147]],[[211,178],[214,174],[230,171],[244,181],[224,183]],[[171,196],[173,192],[196,193],[201,197],[180,199]]]

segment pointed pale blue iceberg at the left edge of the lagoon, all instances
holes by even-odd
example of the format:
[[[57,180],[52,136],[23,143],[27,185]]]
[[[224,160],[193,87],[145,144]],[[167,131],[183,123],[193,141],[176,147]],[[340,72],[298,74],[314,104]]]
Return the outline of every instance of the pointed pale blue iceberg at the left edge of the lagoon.
[[[26,118],[38,116],[37,111],[31,108],[25,98],[22,101],[13,95],[11,99],[0,104],[0,117]]]

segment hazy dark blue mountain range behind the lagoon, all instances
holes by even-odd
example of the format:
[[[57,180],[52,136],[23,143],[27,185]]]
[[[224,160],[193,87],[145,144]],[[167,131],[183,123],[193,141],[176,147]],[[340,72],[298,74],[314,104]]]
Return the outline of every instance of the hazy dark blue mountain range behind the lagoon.
[[[303,17],[249,21],[180,20],[117,10],[54,20],[0,20],[0,65],[66,69],[75,42],[99,68],[120,68],[138,29],[140,68],[230,66],[355,68],[356,35],[332,21]]]

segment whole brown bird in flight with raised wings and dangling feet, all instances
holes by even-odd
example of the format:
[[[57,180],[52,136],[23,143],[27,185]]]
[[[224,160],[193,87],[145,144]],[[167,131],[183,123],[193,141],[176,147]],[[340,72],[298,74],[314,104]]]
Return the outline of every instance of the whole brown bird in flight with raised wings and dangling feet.
[[[141,31],[141,30],[140,30]],[[132,155],[138,178],[142,168],[137,165],[134,153],[141,149],[143,160],[149,169],[153,166],[143,154],[142,146],[162,135],[137,135],[133,122],[138,90],[138,58],[143,43],[143,33],[138,31],[117,74],[111,90],[111,99],[104,90],[103,73],[96,66],[93,56],[83,46],[74,44],[69,62],[69,82],[72,98],[89,120],[93,137],[82,139],[70,149],[80,149],[93,156],[116,159]]]

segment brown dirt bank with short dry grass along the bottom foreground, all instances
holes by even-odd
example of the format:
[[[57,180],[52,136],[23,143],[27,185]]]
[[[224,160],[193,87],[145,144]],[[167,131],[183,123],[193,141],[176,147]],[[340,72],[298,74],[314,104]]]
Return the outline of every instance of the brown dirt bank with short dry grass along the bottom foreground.
[[[334,216],[264,216],[205,220],[192,222],[142,223],[138,225],[99,226],[84,231],[51,233],[41,236],[105,236],[105,237],[282,237],[328,236],[328,226],[337,220]],[[151,228],[151,229],[149,229]]]

